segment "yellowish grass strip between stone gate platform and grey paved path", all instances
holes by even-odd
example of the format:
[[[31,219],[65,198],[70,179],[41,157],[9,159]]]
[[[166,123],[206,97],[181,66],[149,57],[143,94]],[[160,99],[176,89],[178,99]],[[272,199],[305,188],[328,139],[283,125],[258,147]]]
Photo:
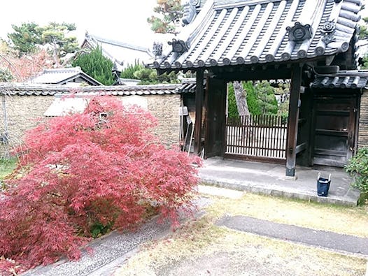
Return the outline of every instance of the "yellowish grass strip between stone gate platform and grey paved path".
[[[217,198],[208,210],[223,215],[246,215],[283,224],[368,238],[368,206],[326,205],[246,193],[229,201]]]

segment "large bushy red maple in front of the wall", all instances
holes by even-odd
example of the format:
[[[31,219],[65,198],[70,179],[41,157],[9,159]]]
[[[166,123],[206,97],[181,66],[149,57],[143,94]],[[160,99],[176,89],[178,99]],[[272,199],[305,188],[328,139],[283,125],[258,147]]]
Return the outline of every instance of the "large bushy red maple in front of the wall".
[[[148,112],[99,96],[29,131],[0,194],[0,272],[78,259],[95,224],[134,228],[148,205],[176,226],[200,160],[158,143],[153,126]]]

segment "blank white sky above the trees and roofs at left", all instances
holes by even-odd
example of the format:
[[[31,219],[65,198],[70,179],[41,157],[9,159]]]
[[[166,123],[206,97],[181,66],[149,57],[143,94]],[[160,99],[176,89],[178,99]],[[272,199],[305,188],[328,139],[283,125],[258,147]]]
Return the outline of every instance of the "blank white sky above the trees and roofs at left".
[[[0,38],[13,32],[12,24],[36,22],[75,23],[79,43],[85,31],[115,41],[151,47],[155,34],[147,17],[153,15],[156,0],[1,0]],[[164,41],[169,41],[165,39]]]

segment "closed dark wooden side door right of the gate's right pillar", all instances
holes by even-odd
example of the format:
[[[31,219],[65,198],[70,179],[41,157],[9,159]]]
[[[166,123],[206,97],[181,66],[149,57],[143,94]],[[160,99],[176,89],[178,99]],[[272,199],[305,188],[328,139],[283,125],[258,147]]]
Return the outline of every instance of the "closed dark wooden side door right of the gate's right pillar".
[[[346,165],[355,147],[357,97],[316,96],[313,103],[313,164]]]

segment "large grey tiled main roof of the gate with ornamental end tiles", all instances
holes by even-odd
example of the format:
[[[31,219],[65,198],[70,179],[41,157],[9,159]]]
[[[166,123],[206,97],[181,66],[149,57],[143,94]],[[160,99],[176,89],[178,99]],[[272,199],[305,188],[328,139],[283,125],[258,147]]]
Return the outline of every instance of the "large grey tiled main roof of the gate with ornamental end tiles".
[[[207,0],[151,68],[264,64],[348,50],[360,0]],[[183,45],[183,44],[182,44]]]

